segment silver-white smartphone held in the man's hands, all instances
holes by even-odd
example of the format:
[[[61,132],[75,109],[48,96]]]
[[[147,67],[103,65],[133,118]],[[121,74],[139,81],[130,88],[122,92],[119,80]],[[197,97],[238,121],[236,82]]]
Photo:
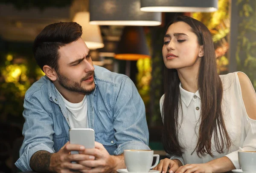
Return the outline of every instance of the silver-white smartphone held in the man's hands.
[[[70,144],[84,145],[85,148],[94,148],[95,135],[92,128],[70,128]],[[78,151],[71,151],[78,154]]]

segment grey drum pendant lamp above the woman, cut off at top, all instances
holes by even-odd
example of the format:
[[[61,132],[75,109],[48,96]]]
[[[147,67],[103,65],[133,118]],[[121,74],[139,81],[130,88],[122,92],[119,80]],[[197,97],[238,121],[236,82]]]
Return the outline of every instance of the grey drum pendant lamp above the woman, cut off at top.
[[[140,0],[141,11],[213,12],[218,0]]]

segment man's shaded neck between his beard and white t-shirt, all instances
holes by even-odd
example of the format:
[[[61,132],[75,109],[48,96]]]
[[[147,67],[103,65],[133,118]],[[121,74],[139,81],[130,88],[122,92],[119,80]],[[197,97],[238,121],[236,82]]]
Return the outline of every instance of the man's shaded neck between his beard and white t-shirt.
[[[79,103],[84,99],[85,93],[69,91],[61,85],[54,84],[59,93],[70,103]]]

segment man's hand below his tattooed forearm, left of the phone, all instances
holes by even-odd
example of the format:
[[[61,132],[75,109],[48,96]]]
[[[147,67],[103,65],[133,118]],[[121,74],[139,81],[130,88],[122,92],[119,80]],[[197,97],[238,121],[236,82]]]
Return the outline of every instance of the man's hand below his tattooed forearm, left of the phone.
[[[81,160],[94,160],[94,156],[84,154],[70,154],[70,151],[84,151],[84,146],[74,145],[67,142],[61,150],[53,153],[50,158],[49,171],[55,173],[73,173],[72,170],[89,169],[81,164],[71,163],[72,161],[79,162]],[[40,172],[40,170],[37,170]]]

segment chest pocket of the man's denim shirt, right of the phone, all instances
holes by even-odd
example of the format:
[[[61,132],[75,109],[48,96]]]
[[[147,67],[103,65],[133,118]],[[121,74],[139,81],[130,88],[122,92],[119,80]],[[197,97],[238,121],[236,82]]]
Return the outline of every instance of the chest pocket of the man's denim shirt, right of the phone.
[[[99,130],[95,132],[95,141],[101,143],[110,155],[114,155],[114,151],[117,148],[116,139],[114,134],[116,131],[111,130]]]

